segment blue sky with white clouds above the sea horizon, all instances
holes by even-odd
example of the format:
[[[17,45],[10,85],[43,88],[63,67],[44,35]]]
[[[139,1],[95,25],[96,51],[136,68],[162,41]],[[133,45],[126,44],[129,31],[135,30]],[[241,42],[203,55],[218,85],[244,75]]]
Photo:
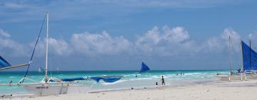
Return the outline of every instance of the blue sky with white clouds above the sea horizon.
[[[29,62],[49,11],[51,70],[211,70],[241,67],[257,47],[254,0],[0,0],[0,55]],[[45,66],[46,26],[30,70]],[[232,50],[228,51],[228,36]],[[255,47],[256,46],[256,47]],[[26,68],[10,71],[25,71]]]

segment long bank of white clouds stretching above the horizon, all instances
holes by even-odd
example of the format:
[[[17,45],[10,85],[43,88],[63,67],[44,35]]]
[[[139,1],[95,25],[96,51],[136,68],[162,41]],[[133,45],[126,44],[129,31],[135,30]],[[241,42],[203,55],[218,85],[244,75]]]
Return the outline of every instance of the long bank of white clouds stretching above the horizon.
[[[190,38],[188,31],[181,26],[173,28],[163,26],[161,29],[158,26],[154,26],[146,34],[137,36],[135,41],[129,41],[123,36],[112,37],[106,31],[101,34],[84,32],[73,34],[71,39],[68,40],[50,38],[49,49],[51,53],[59,56],[70,54],[82,54],[84,56],[119,54],[131,54],[132,56],[191,56],[199,52],[210,53],[226,50],[228,36],[231,36],[233,48],[236,51],[240,51],[241,36],[231,28],[224,29],[221,36],[196,42]],[[255,36],[257,35],[251,35],[251,37]],[[43,56],[45,54],[45,41],[46,39],[39,41],[36,55]],[[33,46],[34,42],[26,46],[26,44],[19,44],[19,42],[11,39],[0,38],[0,49],[6,53],[14,52],[11,54],[28,55]]]

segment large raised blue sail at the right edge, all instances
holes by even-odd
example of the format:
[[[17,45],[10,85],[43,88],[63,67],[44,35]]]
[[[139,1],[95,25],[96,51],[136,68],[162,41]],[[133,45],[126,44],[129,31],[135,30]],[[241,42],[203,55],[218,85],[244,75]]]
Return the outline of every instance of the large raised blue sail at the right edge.
[[[241,41],[243,55],[243,70],[257,70],[257,53],[246,43]]]

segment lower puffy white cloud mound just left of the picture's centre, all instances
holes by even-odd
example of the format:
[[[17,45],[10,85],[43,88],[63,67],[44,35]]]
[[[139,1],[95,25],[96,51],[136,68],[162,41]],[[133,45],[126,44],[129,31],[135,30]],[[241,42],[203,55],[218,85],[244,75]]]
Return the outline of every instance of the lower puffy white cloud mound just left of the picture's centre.
[[[74,51],[82,54],[119,54],[127,51],[130,42],[123,36],[112,38],[106,31],[102,34],[73,34],[71,36],[71,45],[74,46]]]

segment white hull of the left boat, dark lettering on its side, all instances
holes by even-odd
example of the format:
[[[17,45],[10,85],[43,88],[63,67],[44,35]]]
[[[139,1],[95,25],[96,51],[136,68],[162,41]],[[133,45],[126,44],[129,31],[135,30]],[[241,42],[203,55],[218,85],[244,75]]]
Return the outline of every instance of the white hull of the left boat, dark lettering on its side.
[[[67,94],[69,86],[37,86],[26,85],[24,89],[30,94],[36,95],[54,95],[54,94]]]

